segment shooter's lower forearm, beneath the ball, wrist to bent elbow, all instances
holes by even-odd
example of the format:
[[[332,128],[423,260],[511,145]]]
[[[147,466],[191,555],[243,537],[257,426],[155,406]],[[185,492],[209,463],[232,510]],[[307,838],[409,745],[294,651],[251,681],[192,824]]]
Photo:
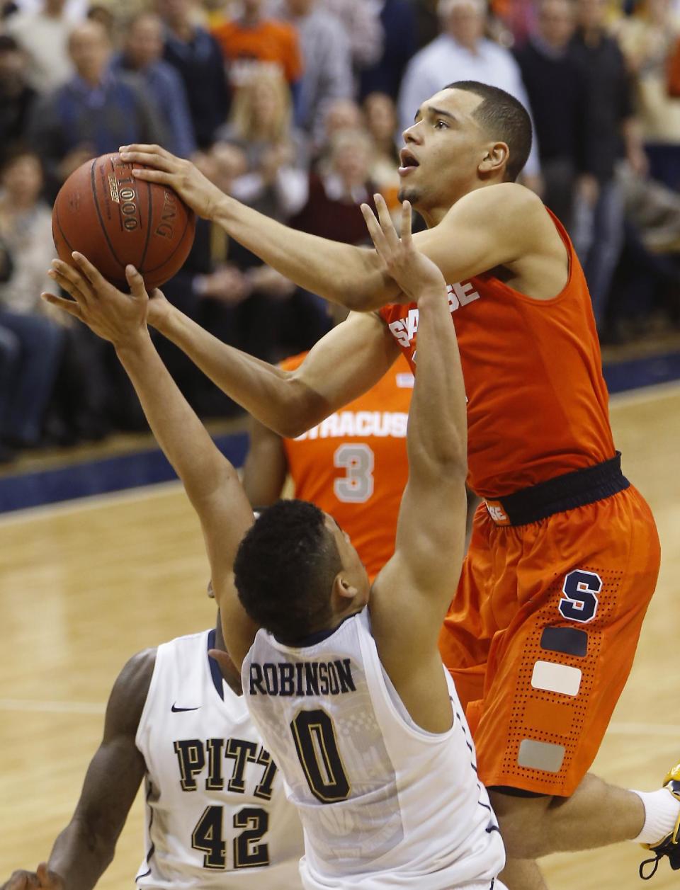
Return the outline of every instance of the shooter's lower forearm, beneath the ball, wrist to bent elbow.
[[[326,416],[322,399],[292,376],[224,344],[177,309],[157,324],[230,399],[279,435],[296,435]]]

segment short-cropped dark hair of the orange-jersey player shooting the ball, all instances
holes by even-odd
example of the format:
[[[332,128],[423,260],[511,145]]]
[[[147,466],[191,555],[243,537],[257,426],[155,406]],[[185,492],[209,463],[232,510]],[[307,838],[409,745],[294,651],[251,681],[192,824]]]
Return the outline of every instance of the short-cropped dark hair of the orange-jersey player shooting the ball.
[[[465,90],[482,98],[474,117],[492,139],[506,142],[510,150],[506,179],[514,182],[522,173],[531,150],[531,118],[522,102],[498,86],[481,84],[477,80],[458,80],[444,89]]]

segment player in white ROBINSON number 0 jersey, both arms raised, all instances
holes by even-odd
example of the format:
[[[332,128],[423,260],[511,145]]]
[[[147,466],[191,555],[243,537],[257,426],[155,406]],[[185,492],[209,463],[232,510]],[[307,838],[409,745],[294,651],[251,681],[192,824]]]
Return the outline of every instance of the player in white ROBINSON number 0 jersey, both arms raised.
[[[124,295],[79,255],[79,271],[55,261],[76,302],[50,302],[115,345],[198,513],[227,648],[302,817],[304,886],[490,890],[503,843],[437,649],[465,540],[456,334],[441,272],[412,245],[408,203],[401,239],[388,214],[381,229],[365,212],[386,271],[420,312],[409,482],[395,552],[372,587],[318,507],[279,501],[253,522],[238,474],[151,343],[136,271]]]

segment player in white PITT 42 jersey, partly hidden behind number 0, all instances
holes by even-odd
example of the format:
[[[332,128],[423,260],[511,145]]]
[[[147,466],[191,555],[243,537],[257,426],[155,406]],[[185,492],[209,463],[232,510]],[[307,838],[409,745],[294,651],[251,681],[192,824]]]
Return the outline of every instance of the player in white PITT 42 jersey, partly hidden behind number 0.
[[[109,698],[104,737],[49,862],[3,890],[90,890],[113,859],[142,781],[146,854],[139,890],[300,890],[303,831],[248,714],[218,627],[130,659]]]

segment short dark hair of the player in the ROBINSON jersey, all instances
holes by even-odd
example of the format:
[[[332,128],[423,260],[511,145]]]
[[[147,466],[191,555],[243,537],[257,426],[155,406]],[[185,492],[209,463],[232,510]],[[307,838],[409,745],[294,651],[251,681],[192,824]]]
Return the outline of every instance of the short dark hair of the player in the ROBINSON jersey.
[[[256,624],[282,643],[295,643],[330,620],[330,590],[342,567],[319,507],[279,500],[241,541],[234,583]]]

